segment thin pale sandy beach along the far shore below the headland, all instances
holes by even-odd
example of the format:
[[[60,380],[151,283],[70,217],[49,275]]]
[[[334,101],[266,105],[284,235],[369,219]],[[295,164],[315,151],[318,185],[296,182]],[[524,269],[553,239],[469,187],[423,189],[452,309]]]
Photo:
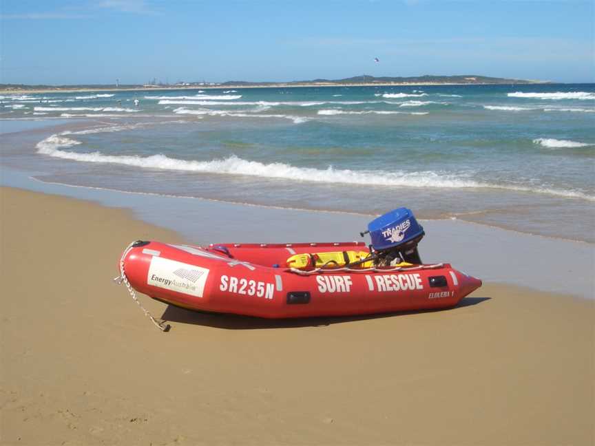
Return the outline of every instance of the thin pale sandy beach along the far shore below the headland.
[[[195,89],[230,89],[230,88],[304,88],[304,87],[423,87],[423,86],[441,86],[441,85],[557,85],[564,83],[534,81],[527,83],[441,83],[441,82],[407,82],[407,83],[315,83],[315,84],[285,84],[278,85],[198,85],[198,86],[177,86],[177,87],[114,87],[114,88],[48,88],[48,89],[0,89],[0,94],[23,94],[23,93],[88,93],[88,92],[157,92],[157,91],[176,91],[176,90],[195,90]]]

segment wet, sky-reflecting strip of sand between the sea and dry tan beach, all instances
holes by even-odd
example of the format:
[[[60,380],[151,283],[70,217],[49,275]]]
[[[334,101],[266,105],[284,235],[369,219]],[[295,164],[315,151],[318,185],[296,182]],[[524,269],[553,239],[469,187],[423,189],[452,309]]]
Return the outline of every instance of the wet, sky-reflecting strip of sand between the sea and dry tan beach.
[[[131,209],[136,218],[167,227],[199,245],[360,240],[358,231],[365,229],[370,221],[369,215],[50,184],[12,169],[4,169],[1,184]],[[155,213],[154,209],[162,212]],[[209,221],[221,224],[202,225],[205,215],[209,216]],[[490,282],[595,299],[595,280],[590,273],[595,268],[594,244],[517,233],[463,220],[426,220],[424,229],[426,237],[420,244],[424,262],[451,263],[459,270]],[[552,256],[564,259],[564,268],[552,261]]]

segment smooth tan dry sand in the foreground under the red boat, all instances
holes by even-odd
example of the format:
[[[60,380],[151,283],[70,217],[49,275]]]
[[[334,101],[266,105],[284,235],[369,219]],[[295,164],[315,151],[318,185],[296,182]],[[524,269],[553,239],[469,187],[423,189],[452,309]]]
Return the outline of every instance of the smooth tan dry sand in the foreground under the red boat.
[[[594,301],[486,284],[452,310],[262,321],[111,279],[128,211],[0,189],[1,445],[592,445]],[[230,240],[231,241],[231,240]]]

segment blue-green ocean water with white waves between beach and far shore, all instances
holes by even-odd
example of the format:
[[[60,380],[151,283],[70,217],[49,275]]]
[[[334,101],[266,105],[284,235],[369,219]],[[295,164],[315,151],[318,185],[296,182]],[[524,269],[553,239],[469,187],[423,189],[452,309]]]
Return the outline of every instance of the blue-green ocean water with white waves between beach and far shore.
[[[407,206],[424,218],[595,242],[593,84],[0,101],[1,163],[45,182],[364,214]],[[23,131],[23,120],[34,123]]]

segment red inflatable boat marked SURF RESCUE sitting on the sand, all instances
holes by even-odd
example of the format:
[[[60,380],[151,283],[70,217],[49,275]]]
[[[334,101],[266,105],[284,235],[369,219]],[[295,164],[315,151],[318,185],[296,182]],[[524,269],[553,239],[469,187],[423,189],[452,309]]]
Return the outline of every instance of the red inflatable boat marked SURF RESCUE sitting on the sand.
[[[370,224],[378,249],[363,242],[200,247],[138,241],[121,257],[121,279],[174,306],[264,318],[447,308],[481,286],[450,264],[415,262],[423,229],[401,237],[417,225],[413,215],[403,221],[400,233],[385,230],[388,248]]]

